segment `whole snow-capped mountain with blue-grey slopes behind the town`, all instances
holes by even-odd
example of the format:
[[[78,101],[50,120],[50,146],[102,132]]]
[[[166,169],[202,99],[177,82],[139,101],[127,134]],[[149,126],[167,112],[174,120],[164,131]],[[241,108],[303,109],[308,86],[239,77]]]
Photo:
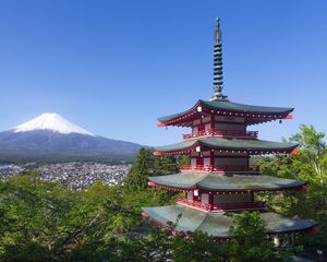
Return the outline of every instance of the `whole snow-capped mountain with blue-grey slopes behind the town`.
[[[0,160],[130,160],[142,145],[107,139],[58,114],[43,114],[0,132]]]

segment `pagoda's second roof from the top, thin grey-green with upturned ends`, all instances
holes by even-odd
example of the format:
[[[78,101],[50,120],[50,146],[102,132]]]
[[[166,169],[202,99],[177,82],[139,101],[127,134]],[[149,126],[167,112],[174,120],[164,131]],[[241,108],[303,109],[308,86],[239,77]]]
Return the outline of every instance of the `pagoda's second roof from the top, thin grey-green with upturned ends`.
[[[235,151],[259,151],[259,152],[284,152],[290,153],[298,146],[294,143],[280,143],[264,140],[249,140],[249,139],[226,139],[217,136],[199,138],[194,140],[184,140],[177,144],[157,146],[156,154],[173,153],[181,151],[192,151],[196,146],[204,146],[214,150],[235,150]],[[253,154],[255,154],[253,152]]]

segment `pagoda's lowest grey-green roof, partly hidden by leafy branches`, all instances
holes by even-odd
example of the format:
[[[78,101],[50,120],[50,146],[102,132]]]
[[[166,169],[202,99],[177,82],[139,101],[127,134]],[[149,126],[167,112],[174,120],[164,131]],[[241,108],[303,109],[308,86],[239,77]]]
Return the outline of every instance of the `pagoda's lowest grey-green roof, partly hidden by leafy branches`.
[[[143,207],[143,211],[146,216],[164,226],[168,226],[168,223],[177,223],[174,228],[178,231],[203,231],[217,238],[229,238],[230,227],[233,225],[232,217],[226,214],[198,211],[179,204]],[[317,225],[313,221],[290,219],[269,212],[261,213],[261,218],[267,234],[308,230]]]

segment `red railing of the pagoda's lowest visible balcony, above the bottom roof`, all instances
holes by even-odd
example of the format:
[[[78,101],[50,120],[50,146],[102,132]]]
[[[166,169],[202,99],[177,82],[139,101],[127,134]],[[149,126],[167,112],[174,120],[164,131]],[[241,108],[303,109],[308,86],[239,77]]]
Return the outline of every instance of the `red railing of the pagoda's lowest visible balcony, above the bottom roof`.
[[[207,204],[198,200],[189,200],[183,196],[177,196],[177,202],[181,204],[186,204],[193,207],[198,207],[205,211],[223,211],[223,210],[254,210],[254,209],[265,209],[266,204],[262,201],[255,202],[239,202],[239,203],[225,203],[225,204]]]

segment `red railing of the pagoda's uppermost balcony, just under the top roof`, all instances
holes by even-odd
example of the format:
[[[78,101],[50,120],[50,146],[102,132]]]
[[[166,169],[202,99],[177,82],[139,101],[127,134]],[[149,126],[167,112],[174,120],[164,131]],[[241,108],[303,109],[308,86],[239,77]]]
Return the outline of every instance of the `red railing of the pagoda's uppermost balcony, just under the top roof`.
[[[241,130],[215,130],[207,129],[201,130],[197,133],[187,133],[183,134],[183,139],[193,139],[198,136],[238,136],[238,138],[246,138],[246,139],[257,139],[257,131],[241,131]]]

